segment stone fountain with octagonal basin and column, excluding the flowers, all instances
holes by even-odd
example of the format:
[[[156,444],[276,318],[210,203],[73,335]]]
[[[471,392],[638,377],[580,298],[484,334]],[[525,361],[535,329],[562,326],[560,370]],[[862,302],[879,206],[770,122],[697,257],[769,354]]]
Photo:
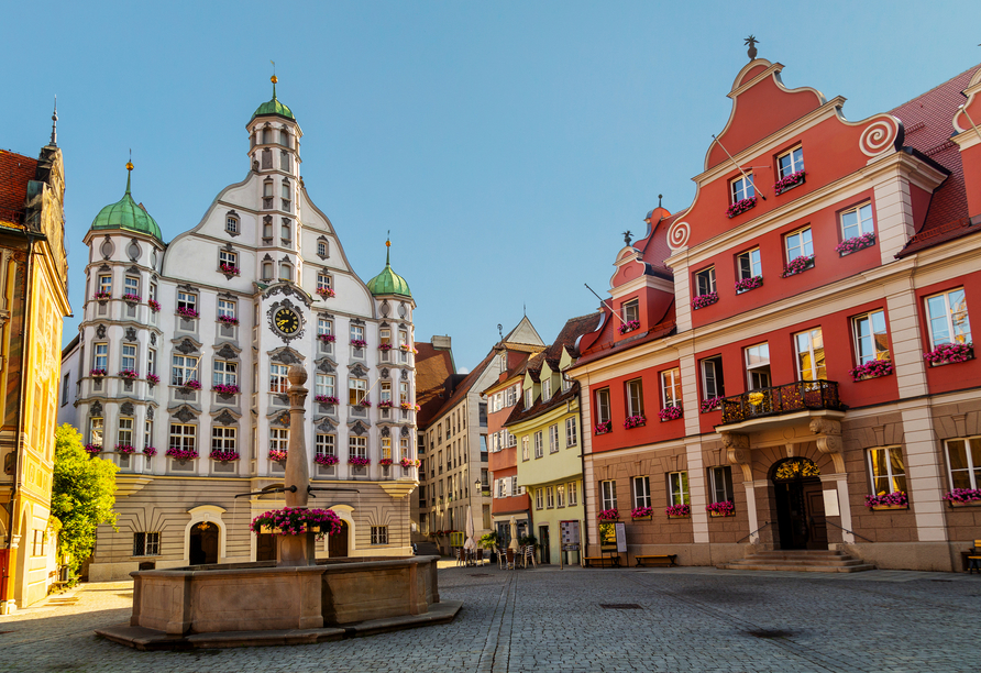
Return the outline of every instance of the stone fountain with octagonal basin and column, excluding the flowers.
[[[289,369],[289,450],[283,492],[307,508],[304,430],[307,372]],[[316,533],[276,536],[276,563],[232,563],[130,573],[129,625],[96,633],[141,650],[294,644],[339,640],[452,620],[440,602],[439,556],[318,561]]]

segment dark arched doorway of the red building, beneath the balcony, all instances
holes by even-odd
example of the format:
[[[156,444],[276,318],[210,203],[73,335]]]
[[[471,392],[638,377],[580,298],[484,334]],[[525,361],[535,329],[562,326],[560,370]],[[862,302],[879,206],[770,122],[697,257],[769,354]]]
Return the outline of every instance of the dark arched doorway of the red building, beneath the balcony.
[[[770,481],[780,549],[827,549],[820,468],[809,459],[789,457],[773,464]]]

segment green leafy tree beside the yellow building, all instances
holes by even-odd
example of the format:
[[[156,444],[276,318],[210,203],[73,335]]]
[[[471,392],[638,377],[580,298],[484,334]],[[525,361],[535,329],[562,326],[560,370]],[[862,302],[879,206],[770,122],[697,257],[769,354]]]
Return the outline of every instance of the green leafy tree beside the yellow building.
[[[92,457],[81,434],[65,423],[55,429],[55,467],[51,511],[62,523],[58,554],[69,554],[68,565],[78,573],[96,547],[100,523],[115,527],[115,473],[113,463]]]

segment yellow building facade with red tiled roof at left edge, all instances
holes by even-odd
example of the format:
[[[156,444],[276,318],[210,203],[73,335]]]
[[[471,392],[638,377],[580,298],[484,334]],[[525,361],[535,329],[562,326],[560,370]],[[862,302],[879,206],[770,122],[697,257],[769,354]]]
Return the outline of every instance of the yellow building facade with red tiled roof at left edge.
[[[54,132],[37,159],[0,153],[0,614],[10,614],[44,598],[57,573],[51,493],[70,308]]]

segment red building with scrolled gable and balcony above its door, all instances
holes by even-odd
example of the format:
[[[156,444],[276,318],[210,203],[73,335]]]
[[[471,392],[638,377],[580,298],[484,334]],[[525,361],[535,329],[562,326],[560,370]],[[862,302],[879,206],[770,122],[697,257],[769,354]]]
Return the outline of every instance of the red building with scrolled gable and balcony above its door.
[[[981,538],[981,69],[861,121],[782,70],[739,71],[694,201],[617,253],[570,372],[587,511],[616,509],[630,562],[961,570]]]

